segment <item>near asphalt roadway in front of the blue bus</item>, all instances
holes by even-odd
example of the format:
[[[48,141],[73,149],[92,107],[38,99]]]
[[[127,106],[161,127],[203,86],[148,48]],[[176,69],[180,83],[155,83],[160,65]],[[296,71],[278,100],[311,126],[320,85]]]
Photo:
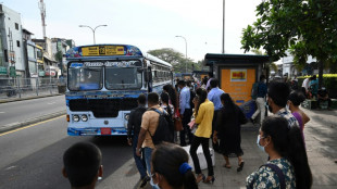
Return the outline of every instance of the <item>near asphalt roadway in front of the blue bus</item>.
[[[0,134],[0,188],[70,188],[61,174],[62,155],[78,141],[102,151],[103,179],[97,188],[137,188],[139,174],[125,137],[67,136],[64,116]]]

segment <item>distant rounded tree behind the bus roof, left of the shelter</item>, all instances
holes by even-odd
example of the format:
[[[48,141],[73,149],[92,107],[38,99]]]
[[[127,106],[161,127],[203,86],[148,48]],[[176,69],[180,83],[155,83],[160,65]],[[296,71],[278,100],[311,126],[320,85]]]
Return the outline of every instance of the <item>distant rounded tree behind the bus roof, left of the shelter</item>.
[[[191,73],[194,70],[201,68],[201,65],[196,64],[192,60],[185,58],[185,55],[174,49],[163,48],[148,51],[149,54],[154,55],[173,65],[175,73]]]

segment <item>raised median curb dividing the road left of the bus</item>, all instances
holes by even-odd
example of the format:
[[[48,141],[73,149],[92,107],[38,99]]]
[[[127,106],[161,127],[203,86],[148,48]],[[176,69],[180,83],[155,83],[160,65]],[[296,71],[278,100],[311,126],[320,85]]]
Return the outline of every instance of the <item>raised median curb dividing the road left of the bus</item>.
[[[18,123],[14,123],[14,124],[8,124],[8,125],[4,125],[4,126],[0,126],[0,134],[1,133],[5,133],[5,131],[10,131],[10,130],[13,130],[13,129],[16,129],[16,128],[20,128],[20,127],[24,127],[24,126],[27,126],[27,125],[36,124],[36,123],[39,123],[39,122],[42,122],[42,121],[47,121],[47,119],[50,119],[50,118],[54,118],[54,117],[58,117],[58,116],[61,116],[61,115],[65,115],[65,114],[66,114],[66,111],[60,111],[60,112],[55,112],[55,113],[51,113],[51,114],[46,114],[46,115],[42,115],[42,116],[39,116],[39,117],[30,118],[30,119],[27,119],[27,121],[24,121],[24,122],[18,122]]]

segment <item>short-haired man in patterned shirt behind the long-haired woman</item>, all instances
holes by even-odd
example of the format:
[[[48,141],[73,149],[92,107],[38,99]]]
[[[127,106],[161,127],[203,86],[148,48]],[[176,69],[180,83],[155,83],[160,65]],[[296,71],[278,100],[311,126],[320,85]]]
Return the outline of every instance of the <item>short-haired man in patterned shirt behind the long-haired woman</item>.
[[[289,127],[299,127],[298,121],[286,108],[289,94],[290,88],[288,84],[279,81],[270,83],[267,90],[269,111],[273,114],[285,117],[288,121]]]

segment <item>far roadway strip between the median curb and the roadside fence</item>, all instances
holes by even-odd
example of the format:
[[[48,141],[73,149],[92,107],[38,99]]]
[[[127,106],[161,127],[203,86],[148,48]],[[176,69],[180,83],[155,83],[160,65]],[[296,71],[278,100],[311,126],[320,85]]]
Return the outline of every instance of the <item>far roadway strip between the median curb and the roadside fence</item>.
[[[0,104],[0,126],[65,111],[64,96],[47,97]]]

